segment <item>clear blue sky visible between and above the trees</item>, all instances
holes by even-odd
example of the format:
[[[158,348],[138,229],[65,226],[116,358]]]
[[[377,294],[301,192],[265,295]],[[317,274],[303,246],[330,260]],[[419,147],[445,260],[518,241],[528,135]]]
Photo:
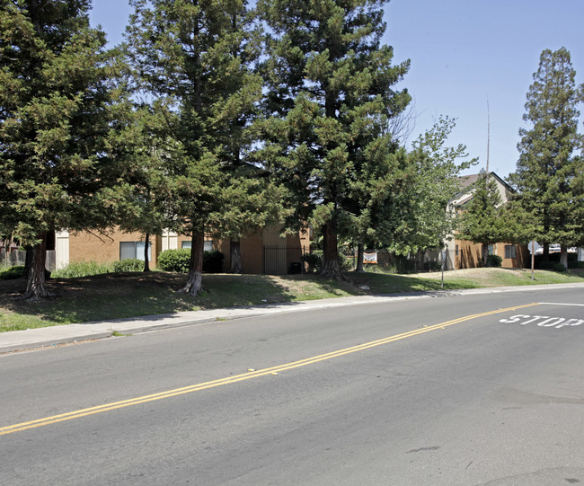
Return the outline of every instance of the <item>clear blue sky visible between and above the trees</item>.
[[[93,0],[91,18],[116,44],[129,13],[126,0]],[[411,60],[400,84],[415,103],[411,139],[439,115],[456,118],[450,144],[464,144],[480,159],[467,172],[486,163],[487,99],[490,170],[501,177],[515,170],[526,93],[542,50],[570,50],[577,82],[584,82],[584,0],[392,0],[385,20],[395,62]]]

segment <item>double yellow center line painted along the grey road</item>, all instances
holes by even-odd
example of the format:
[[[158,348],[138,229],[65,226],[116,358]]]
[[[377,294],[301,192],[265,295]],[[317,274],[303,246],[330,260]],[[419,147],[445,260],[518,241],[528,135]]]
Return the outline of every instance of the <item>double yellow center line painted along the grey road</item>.
[[[508,307],[506,309],[497,309],[495,311],[489,311],[481,314],[466,315],[465,317],[459,317],[453,319],[452,321],[447,321],[446,323],[439,323],[432,326],[422,327],[414,331],[403,332],[402,334],[396,334],[382,340],[373,340],[366,342],[364,344],[358,344],[357,346],[352,346],[351,348],[339,349],[337,351],[332,351],[330,353],[322,354],[319,356],[314,356],[312,358],[305,358],[299,361],[293,361],[285,365],[279,365],[278,367],[269,367],[259,370],[249,371],[243,373],[242,375],[226,376],[225,378],[220,378],[218,380],[213,380],[210,382],[192,384],[190,386],[184,386],[182,388],[175,388],[173,390],[168,390],[167,392],[154,393],[150,395],[144,395],[137,398],[131,398],[129,400],[123,400],[121,402],[111,402],[105,403],[103,405],[98,405],[96,407],[90,407],[87,409],[69,411],[67,413],[62,413],[60,415],[53,415],[51,417],[45,417],[44,419],[31,420],[28,422],[22,422],[14,425],[8,425],[0,428],[0,436],[7,434],[13,434],[14,432],[22,432],[22,430],[36,429],[38,427],[44,427],[46,425],[63,422],[66,420],[79,419],[81,417],[86,417],[88,415],[93,415],[96,413],[102,413],[104,411],[112,411],[116,409],[122,409],[126,407],[131,407],[133,405],[139,405],[140,403],[155,402],[156,400],[163,400],[164,398],[171,398],[174,396],[182,395],[185,393],[199,392],[201,390],[208,390],[208,388],[215,388],[216,386],[222,386],[224,384],[233,384],[237,382],[242,382],[245,380],[251,380],[252,378],[257,378],[259,376],[275,375],[282,371],[287,371],[289,369],[294,369],[297,367],[305,367],[307,365],[312,365],[318,363],[319,361],[325,361],[327,359],[338,358],[351,353],[356,353],[364,349],[375,348],[376,346],[381,346],[396,340],[403,340],[406,338],[411,338],[412,336],[417,336],[418,334],[423,334],[429,331],[436,331],[437,329],[444,329],[448,326],[464,323],[465,321],[470,321],[472,319],[477,319],[479,317],[485,317],[492,314],[500,314],[509,311],[515,311],[518,309],[523,309],[525,307],[531,307],[538,304],[527,304],[527,305],[517,305],[514,307]]]

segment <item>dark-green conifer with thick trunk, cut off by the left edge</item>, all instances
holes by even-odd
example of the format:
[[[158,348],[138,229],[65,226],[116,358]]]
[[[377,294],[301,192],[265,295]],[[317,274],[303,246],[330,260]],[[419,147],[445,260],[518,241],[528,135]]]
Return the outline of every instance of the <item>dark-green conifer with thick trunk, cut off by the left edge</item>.
[[[48,296],[47,234],[107,224],[105,35],[89,0],[0,3],[0,232],[31,249],[25,297]]]

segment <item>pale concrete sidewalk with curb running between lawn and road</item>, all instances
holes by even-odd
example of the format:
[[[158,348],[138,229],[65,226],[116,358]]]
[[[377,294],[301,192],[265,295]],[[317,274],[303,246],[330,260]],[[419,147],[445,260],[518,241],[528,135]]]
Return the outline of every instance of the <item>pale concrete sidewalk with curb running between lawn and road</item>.
[[[332,299],[288,302],[283,304],[250,305],[208,311],[192,311],[175,314],[149,315],[128,319],[115,319],[95,323],[66,324],[60,326],[27,329],[0,333],[0,354],[25,349],[57,346],[80,340],[98,340],[111,337],[114,332],[136,334],[173,327],[212,323],[257,315],[270,315],[288,312],[309,311],[342,305],[363,305],[381,302],[394,302],[436,296],[463,296],[477,294],[496,294],[501,292],[530,292],[561,288],[582,288],[584,284],[555,284],[529,287],[491,287],[469,290],[445,290],[436,292],[412,292],[390,296],[349,296]]]

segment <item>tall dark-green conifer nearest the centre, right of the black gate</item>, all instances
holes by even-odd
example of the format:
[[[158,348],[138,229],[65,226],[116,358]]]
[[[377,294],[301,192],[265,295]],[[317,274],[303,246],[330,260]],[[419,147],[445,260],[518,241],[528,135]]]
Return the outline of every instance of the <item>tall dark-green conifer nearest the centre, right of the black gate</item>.
[[[381,44],[383,4],[258,2],[270,31],[260,156],[289,190],[288,228],[309,224],[323,235],[320,271],[328,278],[342,278],[339,235],[366,219],[355,185],[372,178],[367,168],[390,146],[389,120],[410,102],[405,90],[394,91],[409,62],[392,66],[393,49]]]

